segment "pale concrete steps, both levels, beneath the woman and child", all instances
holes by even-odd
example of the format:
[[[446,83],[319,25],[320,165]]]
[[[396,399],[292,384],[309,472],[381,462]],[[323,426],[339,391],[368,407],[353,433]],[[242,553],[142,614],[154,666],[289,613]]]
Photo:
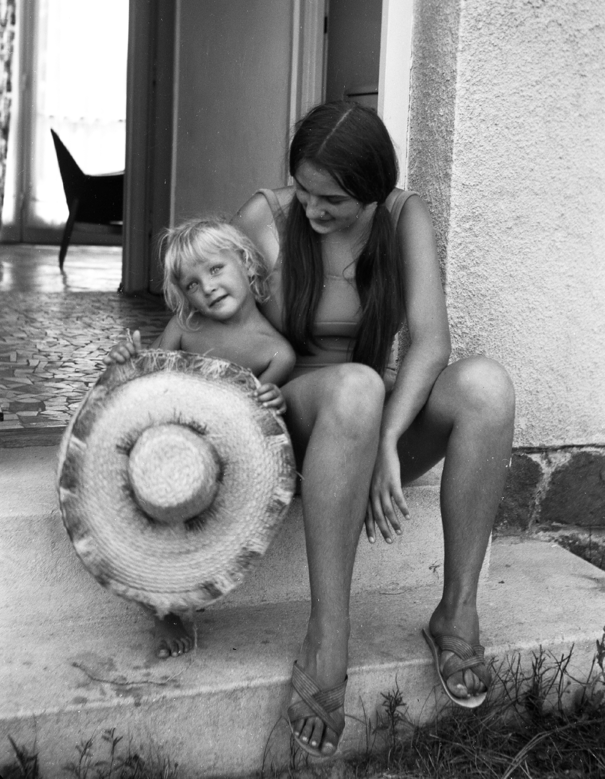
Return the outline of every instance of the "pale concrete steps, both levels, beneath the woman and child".
[[[55,458],[52,447],[0,450],[0,764],[11,756],[6,735],[28,746],[35,738],[42,774],[62,777],[76,744],[113,727],[159,746],[184,777],[250,774],[264,755],[287,761],[280,716],[309,612],[299,506],[243,586],[198,615],[194,653],[159,661],[149,617],[75,557]],[[442,700],[420,633],[442,586],[438,481],[428,474],[407,491],[413,520],[397,544],[360,542],[344,749],[364,746],[364,711],[375,712],[396,679],[413,718]],[[501,539],[481,583],[482,641],[488,654],[520,650],[526,662],[540,644],[558,653],[575,643],[582,675],[604,605],[599,569],[543,541]]]

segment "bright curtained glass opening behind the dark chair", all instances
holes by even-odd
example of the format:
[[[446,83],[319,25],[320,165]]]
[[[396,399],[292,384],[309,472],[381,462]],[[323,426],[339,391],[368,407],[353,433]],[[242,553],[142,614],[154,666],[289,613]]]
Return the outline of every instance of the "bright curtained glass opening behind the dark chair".
[[[128,0],[17,4],[3,242],[58,243],[68,217],[51,129],[86,174],[124,171]],[[72,243],[121,244],[76,223]]]

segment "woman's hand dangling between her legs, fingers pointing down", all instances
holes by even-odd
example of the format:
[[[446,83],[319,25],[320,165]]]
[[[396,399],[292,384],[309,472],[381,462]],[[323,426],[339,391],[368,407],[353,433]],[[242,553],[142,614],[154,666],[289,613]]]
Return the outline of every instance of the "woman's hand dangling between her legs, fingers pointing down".
[[[393,543],[393,533],[401,533],[400,521],[393,508],[393,503],[403,514],[404,519],[410,519],[410,512],[401,489],[401,475],[397,444],[381,441],[376,455],[372,482],[369,489],[368,511],[365,515],[365,532],[368,541],[376,541],[376,525],[387,544]]]

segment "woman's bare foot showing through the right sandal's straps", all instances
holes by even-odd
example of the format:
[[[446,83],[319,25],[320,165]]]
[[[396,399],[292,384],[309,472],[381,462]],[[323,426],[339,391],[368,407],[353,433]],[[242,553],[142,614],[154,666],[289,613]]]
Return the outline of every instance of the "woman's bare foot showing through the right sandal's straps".
[[[479,617],[474,606],[447,608],[440,603],[428,623],[433,637],[456,636],[476,646],[479,642]],[[439,657],[439,671],[453,657],[453,652],[443,650]],[[446,679],[449,692],[456,698],[466,699],[484,693],[486,686],[470,668],[466,671],[456,671]]]

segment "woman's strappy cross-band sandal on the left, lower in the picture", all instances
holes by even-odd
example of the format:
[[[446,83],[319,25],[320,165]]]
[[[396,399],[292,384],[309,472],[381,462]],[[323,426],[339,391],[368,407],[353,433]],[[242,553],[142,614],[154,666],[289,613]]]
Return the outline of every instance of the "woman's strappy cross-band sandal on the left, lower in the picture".
[[[338,709],[344,706],[344,693],[347,689],[348,676],[344,678],[344,682],[332,689],[327,689],[322,692],[317,686],[314,679],[303,671],[302,668],[296,664],[292,666],[292,687],[296,690],[302,700],[292,703],[292,706],[288,709],[288,724],[294,740],[306,753],[313,757],[331,757],[341,745],[341,735],[344,731],[344,714]],[[319,749],[316,749],[310,744],[300,740],[300,737],[295,735],[292,722],[297,720],[304,720],[307,717],[319,717],[323,722],[324,728],[330,728],[338,736],[338,744],[336,749],[330,755],[324,755]]]

